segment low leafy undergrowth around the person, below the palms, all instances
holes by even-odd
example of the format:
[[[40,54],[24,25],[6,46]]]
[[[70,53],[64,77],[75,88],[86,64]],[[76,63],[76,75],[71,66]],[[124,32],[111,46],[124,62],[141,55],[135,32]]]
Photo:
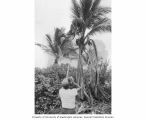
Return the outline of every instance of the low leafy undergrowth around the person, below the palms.
[[[61,101],[58,97],[58,92],[62,79],[66,77],[67,67],[67,64],[61,64],[53,65],[46,69],[35,68],[35,114],[59,114]],[[78,114],[91,114],[93,112],[98,114],[111,113],[111,68],[108,63],[101,62],[99,69],[100,86],[108,98],[104,97],[100,91],[94,92],[95,86],[89,84],[89,70],[84,70],[85,90],[88,95],[90,95],[89,91],[92,91],[93,105],[91,106],[90,101],[86,97],[78,101],[76,104],[76,113]],[[75,82],[77,81],[76,71],[76,68],[70,67],[69,76],[73,76]]]

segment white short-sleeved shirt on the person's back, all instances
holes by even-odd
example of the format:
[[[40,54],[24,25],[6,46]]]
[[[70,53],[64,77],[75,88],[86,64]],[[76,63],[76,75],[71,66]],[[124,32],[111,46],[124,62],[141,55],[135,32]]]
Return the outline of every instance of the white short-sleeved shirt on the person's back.
[[[77,89],[64,89],[59,90],[59,96],[61,98],[63,108],[75,108],[75,97],[77,95]]]

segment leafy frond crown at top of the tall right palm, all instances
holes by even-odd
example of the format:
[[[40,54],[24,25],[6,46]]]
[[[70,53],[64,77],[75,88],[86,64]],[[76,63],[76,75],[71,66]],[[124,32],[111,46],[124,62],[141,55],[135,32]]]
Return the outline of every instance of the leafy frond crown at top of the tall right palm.
[[[72,0],[73,21],[70,34],[81,35],[83,41],[96,32],[111,31],[111,21],[105,14],[111,10],[100,6],[101,0]],[[85,36],[86,30],[89,32]]]

